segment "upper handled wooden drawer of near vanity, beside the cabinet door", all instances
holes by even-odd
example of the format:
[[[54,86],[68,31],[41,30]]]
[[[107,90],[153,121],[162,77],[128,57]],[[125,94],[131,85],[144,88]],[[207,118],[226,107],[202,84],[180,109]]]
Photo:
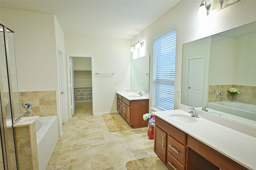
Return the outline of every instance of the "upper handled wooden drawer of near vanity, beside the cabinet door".
[[[170,152],[176,159],[185,165],[186,146],[183,146],[171,136],[168,136],[168,152]]]

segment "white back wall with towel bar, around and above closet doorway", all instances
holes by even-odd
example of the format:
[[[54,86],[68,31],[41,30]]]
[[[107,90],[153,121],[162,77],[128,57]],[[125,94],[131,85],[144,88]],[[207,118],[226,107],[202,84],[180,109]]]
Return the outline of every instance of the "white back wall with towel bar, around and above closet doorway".
[[[130,40],[72,34],[65,43],[68,55],[93,55],[94,114],[116,113],[116,89],[130,89]]]

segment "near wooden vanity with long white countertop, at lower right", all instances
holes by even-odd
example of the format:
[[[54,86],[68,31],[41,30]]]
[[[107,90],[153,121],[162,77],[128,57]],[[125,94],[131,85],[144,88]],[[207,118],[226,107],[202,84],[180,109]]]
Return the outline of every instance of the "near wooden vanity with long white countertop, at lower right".
[[[256,138],[182,110],[154,112],[154,152],[179,170],[256,169]]]

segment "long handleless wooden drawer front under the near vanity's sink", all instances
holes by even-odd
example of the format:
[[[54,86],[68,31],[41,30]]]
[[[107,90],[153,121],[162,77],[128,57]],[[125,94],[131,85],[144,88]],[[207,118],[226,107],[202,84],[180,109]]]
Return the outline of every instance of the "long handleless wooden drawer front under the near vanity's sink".
[[[166,132],[172,136],[172,138],[174,138],[181,144],[186,145],[186,136],[187,136],[186,133],[184,133],[180,129],[170,125],[166,121],[163,121],[159,117],[155,118],[155,122],[157,123],[158,127],[165,129]]]

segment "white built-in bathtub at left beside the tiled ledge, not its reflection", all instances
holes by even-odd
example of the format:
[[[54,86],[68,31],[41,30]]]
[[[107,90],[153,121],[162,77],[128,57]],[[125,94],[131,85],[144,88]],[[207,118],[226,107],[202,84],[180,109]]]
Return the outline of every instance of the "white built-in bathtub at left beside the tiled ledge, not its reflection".
[[[45,170],[58,140],[58,119],[56,116],[38,117],[35,123],[39,170]]]

